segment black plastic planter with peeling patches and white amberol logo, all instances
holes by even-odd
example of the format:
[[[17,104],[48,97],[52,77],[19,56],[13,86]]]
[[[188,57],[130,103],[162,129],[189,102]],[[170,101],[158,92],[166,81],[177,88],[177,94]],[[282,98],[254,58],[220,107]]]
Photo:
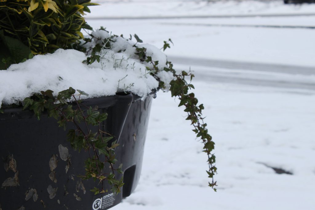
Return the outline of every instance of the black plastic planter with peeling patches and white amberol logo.
[[[152,97],[115,95],[86,99],[86,106],[99,107],[108,113],[104,130],[112,133],[120,144],[116,150],[118,163],[123,163],[122,193],[109,191],[94,195],[93,180],[82,180],[87,152],[74,151],[66,141],[66,132],[55,119],[22,108],[4,109],[0,114],[0,208],[2,210],[98,210],[108,209],[129,196],[138,184]],[[68,124],[67,129],[73,125]],[[55,167],[55,168],[54,168]],[[68,168],[68,170],[67,170]],[[110,170],[107,168],[106,170]],[[118,174],[118,179],[122,174]]]

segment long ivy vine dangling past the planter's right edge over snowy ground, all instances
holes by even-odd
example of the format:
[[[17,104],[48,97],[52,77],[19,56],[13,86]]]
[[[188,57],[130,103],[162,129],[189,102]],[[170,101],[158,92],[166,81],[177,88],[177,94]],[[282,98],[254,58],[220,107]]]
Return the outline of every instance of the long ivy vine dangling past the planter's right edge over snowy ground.
[[[170,48],[169,42],[172,43],[172,40],[169,39],[169,41],[164,41],[163,51],[165,51],[165,49],[167,48]],[[139,55],[140,60],[151,63],[153,65],[153,69],[155,71],[152,71],[151,74],[159,81],[159,78],[156,75],[158,73],[158,61],[152,61],[152,58],[150,56],[146,56],[146,48],[136,48],[136,51],[136,54]],[[212,153],[215,148],[215,143],[208,133],[207,123],[203,122],[203,104],[198,105],[198,99],[195,97],[195,94],[189,93],[189,90],[195,89],[195,87],[191,84],[192,78],[195,77],[195,75],[193,75],[191,71],[181,71],[179,74],[177,74],[175,69],[173,69],[172,62],[170,61],[167,61],[166,65],[168,67],[165,67],[163,70],[172,72],[174,77],[176,78],[170,82],[171,95],[172,97],[177,97],[180,100],[178,106],[186,107],[184,110],[187,113],[186,120],[191,121],[191,125],[194,127],[192,131],[195,132],[197,134],[196,137],[201,139],[201,141],[203,142],[203,152],[207,153],[208,156],[207,163],[209,169],[206,172],[208,174],[208,177],[211,179],[211,182],[209,182],[209,186],[216,191],[215,186],[217,186],[217,184],[214,180],[214,175],[217,173],[217,168],[215,167],[215,155]],[[190,82],[187,82],[185,77],[190,77]],[[159,81],[159,87],[165,88],[164,82]]]

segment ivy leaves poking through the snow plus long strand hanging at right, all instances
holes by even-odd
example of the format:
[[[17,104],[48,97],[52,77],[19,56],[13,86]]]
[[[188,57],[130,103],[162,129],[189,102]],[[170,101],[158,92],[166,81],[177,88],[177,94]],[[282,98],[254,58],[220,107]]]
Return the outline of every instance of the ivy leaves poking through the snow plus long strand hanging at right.
[[[105,30],[105,29],[103,29]],[[93,37],[92,35],[90,35]],[[91,64],[95,61],[100,62],[100,57],[102,56],[102,49],[110,48],[110,42],[112,42],[112,37],[107,38],[106,40],[102,40],[101,44],[97,44],[94,48],[91,49],[90,57],[85,60],[87,64]],[[135,34],[134,35],[137,43],[142,43],[142,40]],[[130,35],[130,40],[132,36]],[[91,42],[91,39],[86,39],[87,42]],[[158,69],[158,61],[152,60],[152,57],[146,55],[146,48],[137,47],[137,43],[133,45],[135,48],[135,54],[139,57],[139,60],[142,62],[152,64],[153,68],[150,69],[147,67],[148,72],[159,82],[159,88],[165,88],[164,82],[160,81],[157,73],[161,70]],[[163,50],[170,48],[170,44],[172,40],[169,39],[168,41],[164,41]],[[161,49],[162,49],[161,48]],[[98,57],[96,57],[98,56]],[[166,62],[167,67],[163,69],[163,71],[169,71],[173,73],[175,77],[174,80],[170,82],[170,91],[172,97],[177,97],[180,100],[179,106],[185,106],[185,112],[187,113],[186,120],[191,122],[193,126],[192,131],[196,133],[196,137],[199,138],[203,142],[203,152],[207,154],[207,163],[208,163],[208,170],[207,174],[208,177],[211,179],[209,182],[209,186],[212,187],[215,191],[216,182],[214,181],[214,175],[217,172],[217,168],[215,167],[215,155],[212,151],[215,148],[215,143],[212,141],[212,137],[208,133],[207,124],[203,122],[203,115],[202,110],[204,109],[203,104],[198,104],[198,99],[195,97],[194,93],[190,93],[192,89],[195,87],[191,84],[192,78],[195,77],[191,71],[181,71],[179,74],[173,69],[173,64],[169,61]],[[189,78],[189,82],[187,82],[186,77]]]

